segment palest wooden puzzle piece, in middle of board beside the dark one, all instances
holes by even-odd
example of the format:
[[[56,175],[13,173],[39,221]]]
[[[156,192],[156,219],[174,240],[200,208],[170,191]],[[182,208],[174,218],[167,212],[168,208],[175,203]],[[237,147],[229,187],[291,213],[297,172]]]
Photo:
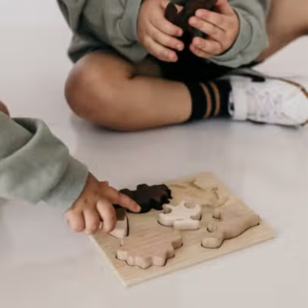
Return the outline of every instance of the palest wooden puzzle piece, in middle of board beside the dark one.
[[[178,206],[165,204],[164,213],[158,215],[158,222],[166,227],[173,226],[177,230],[197,230],[201,213],[198,204],[193,207],[187,207],[186,201],[182,201]]]

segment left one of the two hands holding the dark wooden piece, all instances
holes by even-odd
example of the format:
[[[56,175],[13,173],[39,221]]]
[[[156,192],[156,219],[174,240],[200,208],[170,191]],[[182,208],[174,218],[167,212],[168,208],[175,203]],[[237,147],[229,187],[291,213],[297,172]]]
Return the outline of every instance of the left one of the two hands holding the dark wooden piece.
[[[184,44],[174,37],[181,36],[183,31],[166,20],[164,13],[167,5],[168,2],[163,0],[145,0],[142,3],[138,18],[138,40],[158,59],[175,62],[178,56],[169,48],[184,49]]]

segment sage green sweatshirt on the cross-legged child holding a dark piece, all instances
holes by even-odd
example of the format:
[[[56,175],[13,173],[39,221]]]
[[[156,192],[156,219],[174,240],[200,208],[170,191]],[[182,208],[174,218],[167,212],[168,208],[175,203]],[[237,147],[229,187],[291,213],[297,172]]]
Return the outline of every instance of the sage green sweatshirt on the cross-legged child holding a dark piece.
[[[57,0],[73,31],[69,56],[76,62],[93,50],[113,50],[132,62],[142,60],[146,49],[138,42],[137,21],[143,0]],[[189,1],[189,0],[186,0]],[[183,4],[186,1],[172,0]],[[270,0],[229,0],[239,17],[235,44],[210,61],[239,67],[254,61],[267,46],[266,16]]]

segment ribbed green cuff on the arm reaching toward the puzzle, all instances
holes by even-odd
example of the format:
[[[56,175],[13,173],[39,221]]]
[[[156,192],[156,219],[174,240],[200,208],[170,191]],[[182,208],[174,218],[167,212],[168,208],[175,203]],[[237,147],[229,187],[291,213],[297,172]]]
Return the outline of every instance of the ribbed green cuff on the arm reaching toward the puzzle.
[[[88,177],[87,167],[70,157],[61,181],[43,199],[46,203],[66,211],[79,198]]]

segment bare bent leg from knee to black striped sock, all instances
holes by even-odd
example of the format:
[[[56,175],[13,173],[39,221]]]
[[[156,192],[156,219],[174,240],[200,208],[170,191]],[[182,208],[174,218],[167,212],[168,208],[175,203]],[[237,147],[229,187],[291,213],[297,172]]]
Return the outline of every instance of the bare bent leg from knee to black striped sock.
[[[118,130],[138,130],[186,121],[191,113],[184,84],[148,75],[121,57],[95,52],[73,68],[66,99],[82,118]],[[138,75],[137,75],[138,74]]]

